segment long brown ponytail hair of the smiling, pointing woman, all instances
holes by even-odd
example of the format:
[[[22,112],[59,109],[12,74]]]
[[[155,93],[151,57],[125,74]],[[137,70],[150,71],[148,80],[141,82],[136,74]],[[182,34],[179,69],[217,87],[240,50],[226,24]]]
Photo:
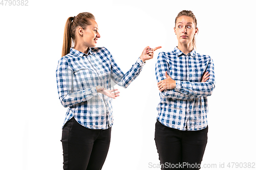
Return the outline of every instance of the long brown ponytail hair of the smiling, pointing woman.
[[[70,48],[72,47],[72,45],[75,45],[76,28],[82,27],[82,29],[85,30],[87,26],[91,25],[90,19],[95,20],[95,17],[89,12],[82,12],[79,13],[77,16],[68,18],[64,29],[61,57],[69,54]]]

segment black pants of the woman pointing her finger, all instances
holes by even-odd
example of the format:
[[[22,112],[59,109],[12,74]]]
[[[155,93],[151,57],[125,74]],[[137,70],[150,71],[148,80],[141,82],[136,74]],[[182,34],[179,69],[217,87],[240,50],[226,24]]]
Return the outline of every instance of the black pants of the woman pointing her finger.
[[[63,169],[100,170],[109,151],[111,128],[88,129],[73,117],[62,129]]]

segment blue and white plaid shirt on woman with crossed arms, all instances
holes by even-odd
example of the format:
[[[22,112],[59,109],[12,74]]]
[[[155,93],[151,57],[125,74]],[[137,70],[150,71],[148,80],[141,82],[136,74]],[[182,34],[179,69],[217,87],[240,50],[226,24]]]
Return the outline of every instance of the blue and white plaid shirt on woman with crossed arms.
[[[159,122],[179,130],[196,131],[207,127],[207,96],[215,88],[214,62],[195,50],[185,55],[178,47],[159,53],[156,63],[157,82],[166,79],[165,71],[176,81],[176,87],[159,93]],[[201,83],[204,72],[209,80]]]

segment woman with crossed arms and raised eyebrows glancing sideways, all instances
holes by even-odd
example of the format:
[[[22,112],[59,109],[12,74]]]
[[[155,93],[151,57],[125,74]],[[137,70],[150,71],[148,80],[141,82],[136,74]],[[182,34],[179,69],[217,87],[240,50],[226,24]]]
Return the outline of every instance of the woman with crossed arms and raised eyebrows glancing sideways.
[[[159,53],[160,90],[155,142],[161,169],[199,169],[207,143],[207,96],[215,88],[214,63],[196,53],[197,20],[181,11],[175,20],[178,46]]]

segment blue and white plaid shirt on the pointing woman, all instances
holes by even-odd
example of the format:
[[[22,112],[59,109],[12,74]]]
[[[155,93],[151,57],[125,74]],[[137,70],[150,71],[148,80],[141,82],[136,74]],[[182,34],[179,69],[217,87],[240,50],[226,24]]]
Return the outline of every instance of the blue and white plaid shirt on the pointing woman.
[[[123,74],[106,48],[90,48],[88,54],[71,48],[70,53],[58,61],[56,70],[59,100],[64,107],[69,107],[63,126],[74,116],[79,124],[89,129],[111,127],[112,99],[98,93],[96,86],[111,89],[112,79],[126,88],[139,75],[143,65],[139,58]]]

